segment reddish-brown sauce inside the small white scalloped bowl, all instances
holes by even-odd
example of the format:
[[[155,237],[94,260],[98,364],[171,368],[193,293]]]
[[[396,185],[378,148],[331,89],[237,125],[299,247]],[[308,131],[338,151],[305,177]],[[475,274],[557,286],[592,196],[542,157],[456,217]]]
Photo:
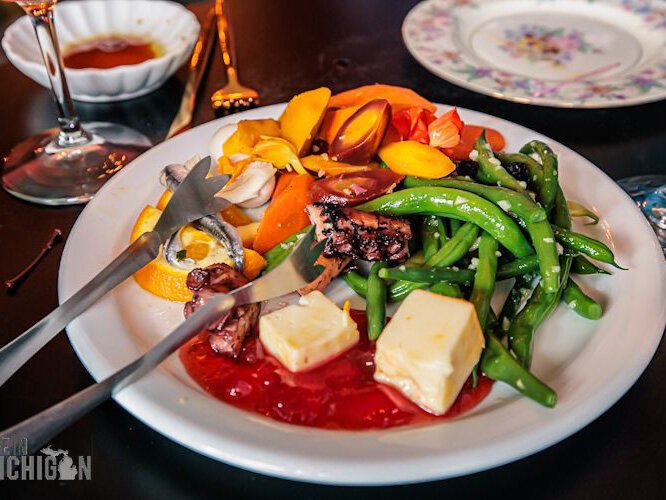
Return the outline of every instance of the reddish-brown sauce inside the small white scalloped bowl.
[[[107,69],[139,64],[161,54],[160,48],[144,39],[129,35],[112,35],[76,42],[63,54],[65,66],[72,69]]]

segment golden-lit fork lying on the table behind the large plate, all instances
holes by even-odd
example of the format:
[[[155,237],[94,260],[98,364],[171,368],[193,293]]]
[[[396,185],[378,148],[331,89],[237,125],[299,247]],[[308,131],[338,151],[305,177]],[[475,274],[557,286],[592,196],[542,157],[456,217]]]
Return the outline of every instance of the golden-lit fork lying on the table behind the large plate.
[[[257,106],[259,92],[241,85],[238,81],[236,46],[231,25],[224,12],[224,0],[215,1],[215,14],[217,15],[217,33],[222,49],[222,59],[227,73],[227,84],[213,92],[210,98],[213,110],[215,112],[235,112]]]

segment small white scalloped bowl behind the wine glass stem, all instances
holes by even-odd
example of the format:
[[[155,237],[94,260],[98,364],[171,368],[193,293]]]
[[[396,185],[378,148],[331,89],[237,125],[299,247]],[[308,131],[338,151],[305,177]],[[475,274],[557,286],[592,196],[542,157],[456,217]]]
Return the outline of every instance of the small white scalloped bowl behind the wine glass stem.
[[[65,2],[58,4],[55,17],[61,47],[100,35],[128,34],[157,42],[164,49],[162,56],[139,64],[109,69],[67,68],[72,97],[87,102],[122,101],[157,89],[189,58],[200,30],[192,12],[162,0]],[[2,48],[24,75],[50,87],[27,16],[7,28]]]

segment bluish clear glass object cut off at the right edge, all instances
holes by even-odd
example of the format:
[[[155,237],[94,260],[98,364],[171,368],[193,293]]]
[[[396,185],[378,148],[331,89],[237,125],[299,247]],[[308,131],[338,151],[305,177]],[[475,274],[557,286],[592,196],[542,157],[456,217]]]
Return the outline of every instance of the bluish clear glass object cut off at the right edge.
[[[618,184],[647,217],[666,257],[666,175],[628,177]]]

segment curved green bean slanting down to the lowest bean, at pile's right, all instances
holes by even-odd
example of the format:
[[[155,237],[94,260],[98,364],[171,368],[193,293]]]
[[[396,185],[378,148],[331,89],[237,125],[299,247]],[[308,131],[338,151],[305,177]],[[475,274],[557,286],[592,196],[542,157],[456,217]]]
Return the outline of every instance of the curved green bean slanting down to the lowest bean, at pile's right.
[[[532,362],[532,351],[534,347],[534,333],[536,329],[550,316],[560,301],[565,283],[569,278],[571,268],[570,256],[562,258],[562,285],[556,293],[546,293],[541,284],[537,285],[532,296],[525,304],[516,318],[509,326],[509,345],[516,353],[518,360],[527,368]]]

